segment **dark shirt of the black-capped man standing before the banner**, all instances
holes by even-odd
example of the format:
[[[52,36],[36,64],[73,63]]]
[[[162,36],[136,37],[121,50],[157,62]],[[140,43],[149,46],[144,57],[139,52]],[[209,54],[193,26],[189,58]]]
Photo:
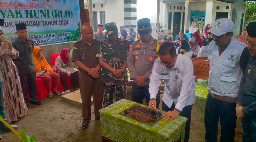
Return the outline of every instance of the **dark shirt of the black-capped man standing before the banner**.
[[[34,49],[33,40],[26,38],[23,42],[19,37],[12,41],[12,46],[19,52],[19,57],[13,59],[19,74],[32,73],[36,71],[34,59],[32,57],[32,51]]]

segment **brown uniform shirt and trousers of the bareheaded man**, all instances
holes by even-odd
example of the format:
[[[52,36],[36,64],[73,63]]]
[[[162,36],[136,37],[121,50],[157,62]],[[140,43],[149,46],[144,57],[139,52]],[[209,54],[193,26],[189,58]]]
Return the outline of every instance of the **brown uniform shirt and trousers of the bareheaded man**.
[[[73,46],[73,62],[81,61],[88,68],[95,68],[99,62],[95,58],[97,54],[97,47],[99,40],[93,39],[92,44],[89,45],[84,40],[74,42]],[[89,123],[91,120],[91,97],[93,95],[93,106],[95,119],[100,119],[99,110],[102,108],[102,85],[101,80],[101,69],[99,70],[99,78],[91,77],[88,72],[79,69],[79,83],[80,83],[80,94],[82,99],[82,116],[83,123]]]

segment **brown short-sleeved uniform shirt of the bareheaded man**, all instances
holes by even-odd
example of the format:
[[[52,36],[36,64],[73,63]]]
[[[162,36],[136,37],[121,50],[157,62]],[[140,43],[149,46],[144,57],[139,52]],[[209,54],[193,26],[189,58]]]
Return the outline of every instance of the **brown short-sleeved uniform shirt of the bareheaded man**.
[[[73,62],[81,61],[88,68],[95,68],[99,64],[98,59],[95,57],[97,54],[97,47],[99,42],[99,40],[93,39],[91,46],[84,40],[74,42]],[[79,71],[87,74],[87,72],[81,69],[79,69]],[[101,72],[101,69],[99,72]]]

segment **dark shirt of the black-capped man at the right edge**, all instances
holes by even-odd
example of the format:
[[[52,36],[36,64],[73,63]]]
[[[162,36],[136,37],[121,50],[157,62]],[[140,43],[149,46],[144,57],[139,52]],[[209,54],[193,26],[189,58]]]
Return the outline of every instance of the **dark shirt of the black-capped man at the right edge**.
[[[247,118],[256,117],[256,57],[251,56],[241,79],[238,103],[243,103],[243,113]]]

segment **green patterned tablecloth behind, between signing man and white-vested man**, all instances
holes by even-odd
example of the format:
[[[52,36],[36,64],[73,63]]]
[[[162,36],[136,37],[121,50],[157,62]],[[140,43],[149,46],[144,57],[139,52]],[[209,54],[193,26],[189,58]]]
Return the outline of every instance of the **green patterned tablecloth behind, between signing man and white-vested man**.
[[[206,104],[206,98],[208,94],[208,85],[197,85],[196,83],[196,106],[199,109],[199,111],[203,114],[205,113],[205,104]]]

